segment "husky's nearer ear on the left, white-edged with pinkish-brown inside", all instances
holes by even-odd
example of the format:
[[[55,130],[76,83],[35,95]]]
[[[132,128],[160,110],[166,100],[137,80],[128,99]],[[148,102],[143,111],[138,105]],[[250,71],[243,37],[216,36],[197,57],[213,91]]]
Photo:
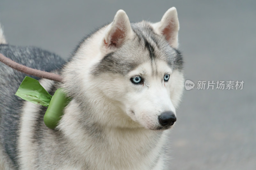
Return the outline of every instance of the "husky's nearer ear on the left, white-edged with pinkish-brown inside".
[[[106,29],[103,44],[106,48],[118,48],[132,35],[128,16],[123,10],[119,10],[116,12],[113,22]]]

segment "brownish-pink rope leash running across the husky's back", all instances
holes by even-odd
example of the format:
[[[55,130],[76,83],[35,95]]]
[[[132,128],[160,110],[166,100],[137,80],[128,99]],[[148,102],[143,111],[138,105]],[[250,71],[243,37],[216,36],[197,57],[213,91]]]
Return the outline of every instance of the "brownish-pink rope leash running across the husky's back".
[[[12,61],[10,58],[5,57],[1,53],[0,53],[0,61],[4,64],[8,65],[11,68],[18,70],[22,73],[28,74],[28,75],[36,76],[39,78],[46,78],[46,79],[53,80],[56,82],[61,82],[61,83],[63,80],[62,77],[58,74],[49,73],[46,71],[41,71],[41,70],[36,70],[36,69],[26,67],[24,65],[21,65],[19,63]]]

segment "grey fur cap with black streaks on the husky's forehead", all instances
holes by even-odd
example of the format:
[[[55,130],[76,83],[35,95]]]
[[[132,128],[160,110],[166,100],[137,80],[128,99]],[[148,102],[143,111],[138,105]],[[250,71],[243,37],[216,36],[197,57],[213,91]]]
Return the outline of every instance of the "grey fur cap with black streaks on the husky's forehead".
[[[136,34],[134,39],[106,55],[92,70],[95,76],[104,72],[126,75],[138,65],[150,60],[153,62],[155,59],[167,62],[173,69],[183,70],[180,51],[169,46],[164,37],[156,34],[148,22],[132,23],[131,26]],[[146,53],[146,57],[138,55],[143,53]]]

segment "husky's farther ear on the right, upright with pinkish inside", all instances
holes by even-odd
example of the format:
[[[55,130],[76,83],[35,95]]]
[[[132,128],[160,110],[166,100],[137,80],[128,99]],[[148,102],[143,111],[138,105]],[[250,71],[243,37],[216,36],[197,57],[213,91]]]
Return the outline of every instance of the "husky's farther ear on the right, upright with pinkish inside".
[[[155,23],[153,26],[156,33],[164,35],[172,47],[178,47],[178,31],[180,26],[175,7],[172,7],[166,11],[161,21]]]

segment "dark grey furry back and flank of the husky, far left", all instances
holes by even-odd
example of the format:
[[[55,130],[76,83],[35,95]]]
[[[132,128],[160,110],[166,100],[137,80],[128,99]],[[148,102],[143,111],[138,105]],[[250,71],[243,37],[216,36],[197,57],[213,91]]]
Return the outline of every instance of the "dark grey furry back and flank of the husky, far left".
[[[17,63],[48,72],[64,64],[60,56],[40,48],[8,45],[1,28],[0,53]],[[17,138],[24,100],[14,94],[25,76],[26,74],[0,63],[0,169],[4,169],[7,164],[17,165]]]

